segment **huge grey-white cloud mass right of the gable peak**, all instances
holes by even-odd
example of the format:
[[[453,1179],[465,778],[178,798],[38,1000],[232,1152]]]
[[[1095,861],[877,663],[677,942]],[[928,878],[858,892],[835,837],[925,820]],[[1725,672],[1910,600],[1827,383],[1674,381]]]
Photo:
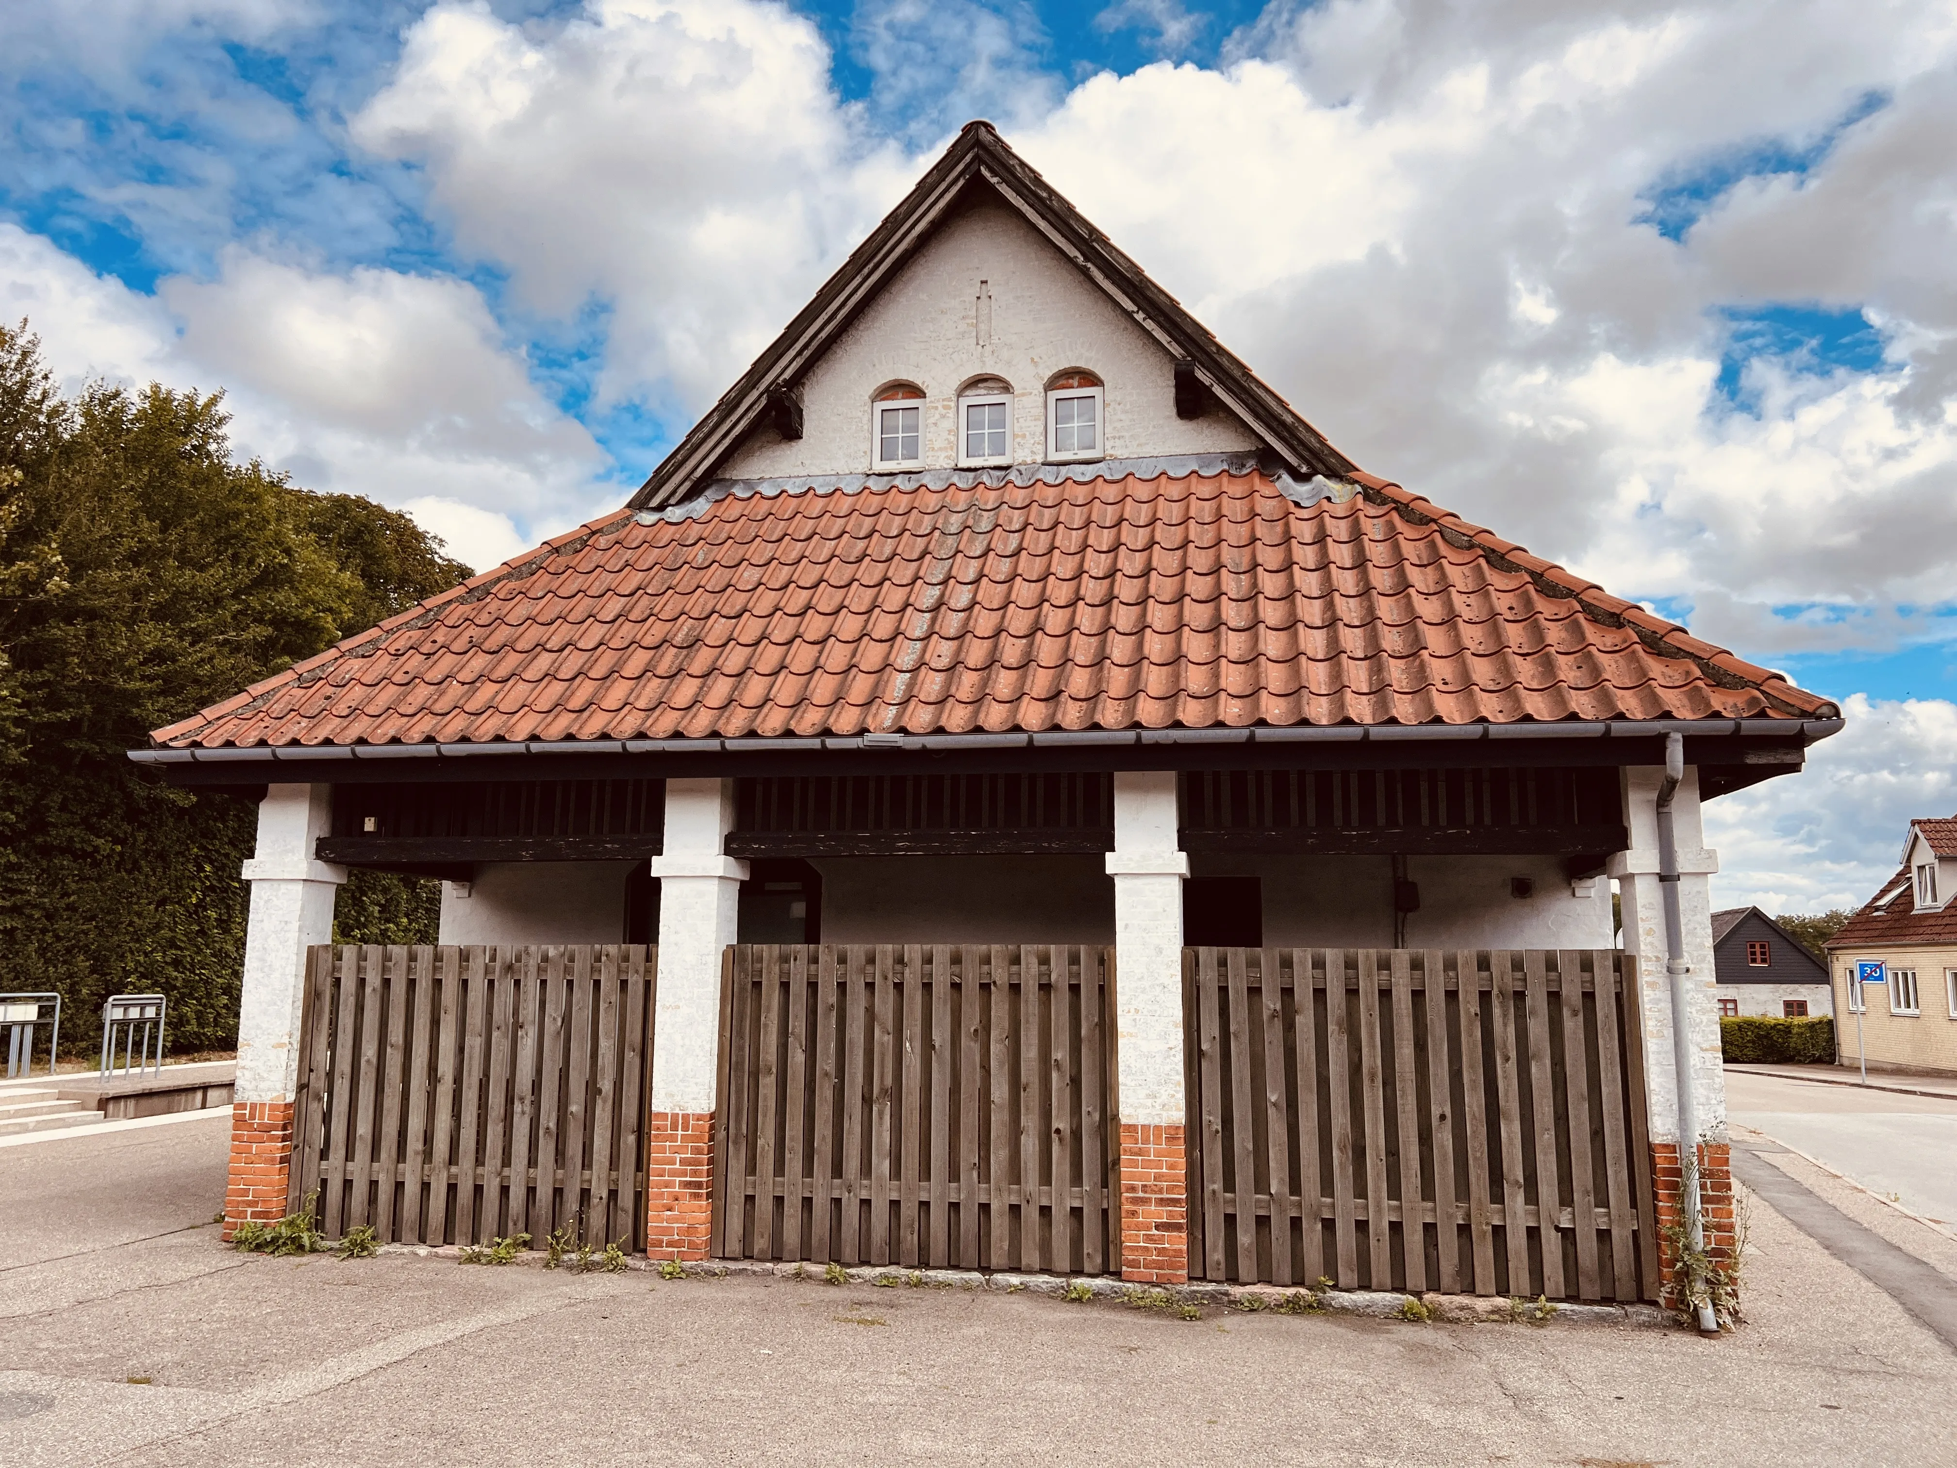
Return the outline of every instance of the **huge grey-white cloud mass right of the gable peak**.
[[[1227,55],[1014,141],[1360,464],[1759,654],[1951,601],[1947,6],[1331,0]],[[1734,407],[1726,309],[1777,301],[1889,358],[1755,358]]]

